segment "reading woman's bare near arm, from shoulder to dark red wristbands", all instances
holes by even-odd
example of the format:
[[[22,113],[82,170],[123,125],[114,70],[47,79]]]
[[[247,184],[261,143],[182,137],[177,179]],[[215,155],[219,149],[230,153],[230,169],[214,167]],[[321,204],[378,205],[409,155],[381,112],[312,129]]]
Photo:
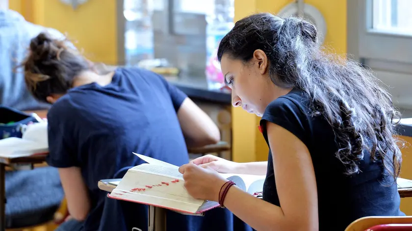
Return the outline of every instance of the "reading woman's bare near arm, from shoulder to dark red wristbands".
[[[256,230],[317,231],[318,200],[313,164],[306,145],[284,128],[267,123],[277,192],[282,206],[231,187],[225,207]]]

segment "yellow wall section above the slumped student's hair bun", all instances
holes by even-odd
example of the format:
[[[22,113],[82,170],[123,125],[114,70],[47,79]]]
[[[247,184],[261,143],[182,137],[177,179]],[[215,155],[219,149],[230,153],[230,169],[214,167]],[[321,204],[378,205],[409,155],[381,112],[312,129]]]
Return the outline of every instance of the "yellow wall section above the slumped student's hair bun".
[[[67,33],[92,61],[117,64],[116,0],[89,0],[76,10],[59,0],[9,2],[27,21]]]

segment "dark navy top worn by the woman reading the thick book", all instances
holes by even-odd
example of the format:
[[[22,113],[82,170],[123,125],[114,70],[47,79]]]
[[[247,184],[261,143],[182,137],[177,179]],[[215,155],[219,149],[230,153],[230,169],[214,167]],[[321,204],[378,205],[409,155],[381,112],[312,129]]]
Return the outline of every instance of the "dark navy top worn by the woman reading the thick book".
[[[337,145],[332,126],[324,116],[310,116],[305,93],[294,89],[266,107],[260,125],[269,145],[266,121],[291,132],[309,150],[318,193],[319,231],[343,231],[364,216],[405,215],[399,210],[400,197],[393,177],[384,174],[382,162],[372,162],[366,150],[359,161],[360,173],[344,174],[345,166],[335,157]],[[263,200],[280,206],[275,178],[269,151]]]

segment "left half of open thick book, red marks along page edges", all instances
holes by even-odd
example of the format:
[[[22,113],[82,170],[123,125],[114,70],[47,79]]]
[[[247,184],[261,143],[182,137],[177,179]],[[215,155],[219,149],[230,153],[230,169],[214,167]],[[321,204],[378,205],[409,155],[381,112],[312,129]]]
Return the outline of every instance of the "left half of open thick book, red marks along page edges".
[[[172,168],[154,164],[139,166],[138,170],[129,169],[110,194],[112,197],[188,213],[195,213],[205,202],[187,193],[183,180],[176,181],[178,178],[174,176],[176,172],[173,173]]]

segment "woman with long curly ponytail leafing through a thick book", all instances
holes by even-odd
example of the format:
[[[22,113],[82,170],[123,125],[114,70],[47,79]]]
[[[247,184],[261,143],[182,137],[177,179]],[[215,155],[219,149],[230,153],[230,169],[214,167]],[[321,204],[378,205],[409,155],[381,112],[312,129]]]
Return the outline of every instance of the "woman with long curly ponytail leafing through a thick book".
[[[258,13],[222,39],[232,104],[261,116],[267,162],[213,156],[180,167],[195,198],[218,201],[256,230],[343,231],[360,217],[401,216],[399,115],[373,73],[323,51],[315,26]],[[266,175],[258,199],[217,173]]]

